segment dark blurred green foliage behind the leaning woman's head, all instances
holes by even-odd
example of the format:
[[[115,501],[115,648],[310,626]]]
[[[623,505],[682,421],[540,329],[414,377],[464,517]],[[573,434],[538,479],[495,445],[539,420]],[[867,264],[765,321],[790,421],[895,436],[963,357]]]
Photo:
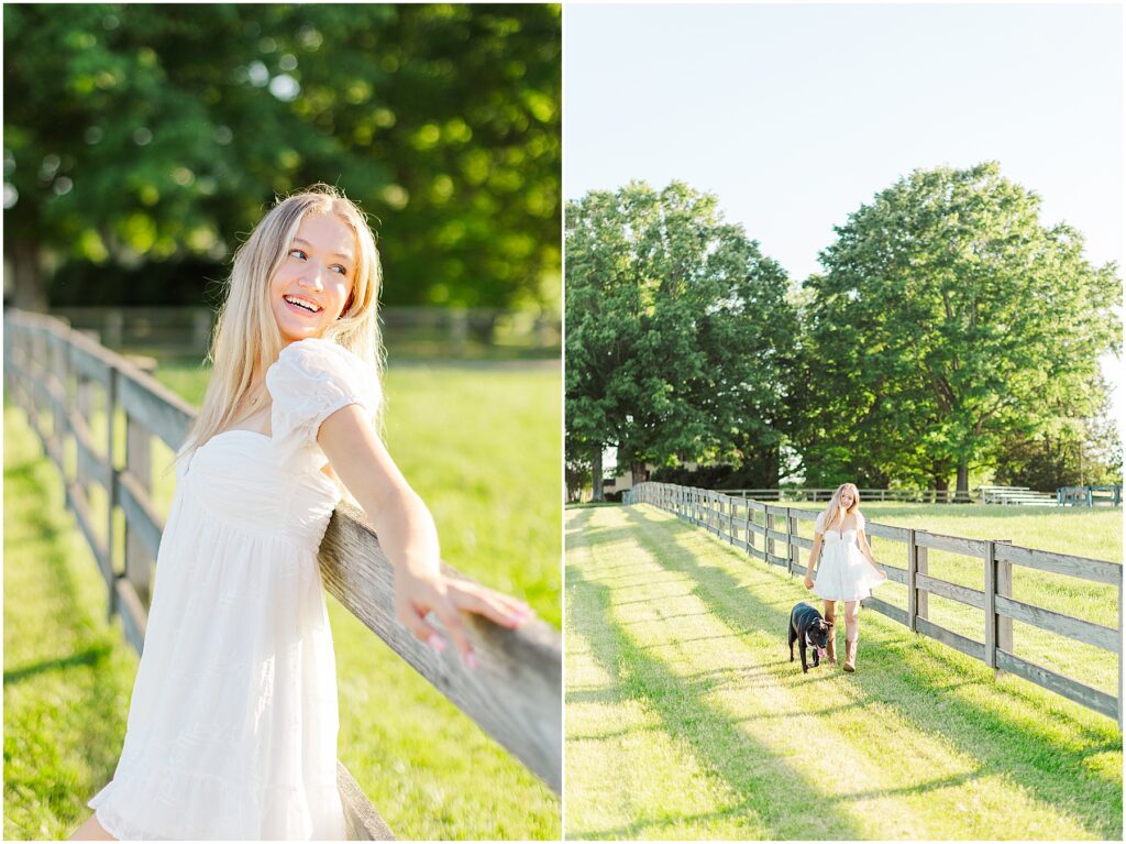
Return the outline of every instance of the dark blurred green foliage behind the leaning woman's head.
[[[199,303],[276,194],[328,181],[386,303],[557,309],[557,5],[3,15],[17,304]]]

